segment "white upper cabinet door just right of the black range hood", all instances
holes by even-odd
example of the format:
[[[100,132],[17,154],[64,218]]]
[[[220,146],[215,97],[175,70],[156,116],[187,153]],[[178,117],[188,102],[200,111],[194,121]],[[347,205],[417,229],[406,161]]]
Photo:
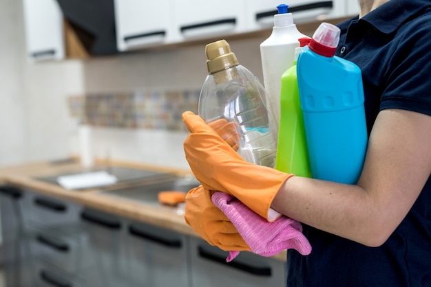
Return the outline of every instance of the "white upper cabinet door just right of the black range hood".
[[[171,1],[114,0],[116,40],[120,51],[173,38]]]

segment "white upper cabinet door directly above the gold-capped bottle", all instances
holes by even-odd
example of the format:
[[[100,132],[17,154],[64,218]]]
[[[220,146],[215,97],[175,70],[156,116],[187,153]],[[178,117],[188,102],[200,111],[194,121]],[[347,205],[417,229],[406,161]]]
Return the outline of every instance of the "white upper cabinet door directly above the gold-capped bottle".
[[[243,0],[220,0],[209,5],[207,1],[174,1],[174,19],[183,39],[208,38],[246,30]]]

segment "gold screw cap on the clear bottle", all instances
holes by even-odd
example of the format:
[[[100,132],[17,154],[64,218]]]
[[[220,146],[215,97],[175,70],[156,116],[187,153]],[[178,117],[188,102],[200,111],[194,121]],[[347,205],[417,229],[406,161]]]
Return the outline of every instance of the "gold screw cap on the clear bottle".
[[[205,46],[205,54],[209,73],[216,73],[239,65],[238,59],[231,51],[231,46],[225,40],[209,43]]]

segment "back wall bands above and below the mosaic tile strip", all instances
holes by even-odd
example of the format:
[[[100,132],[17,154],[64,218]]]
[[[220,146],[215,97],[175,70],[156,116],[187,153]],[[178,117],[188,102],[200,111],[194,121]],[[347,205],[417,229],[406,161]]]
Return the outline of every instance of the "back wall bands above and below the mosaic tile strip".
[[[242,65],[260,79],[261,41],[229,41]],[[83,71],[86,93],[199,91],[207,76],[203,44],[86,60]],[[185,131],[94,128],[93,135],[98,157],[109,155],[114,159],[188,169],[182,149],[182,142],[187,136]]]

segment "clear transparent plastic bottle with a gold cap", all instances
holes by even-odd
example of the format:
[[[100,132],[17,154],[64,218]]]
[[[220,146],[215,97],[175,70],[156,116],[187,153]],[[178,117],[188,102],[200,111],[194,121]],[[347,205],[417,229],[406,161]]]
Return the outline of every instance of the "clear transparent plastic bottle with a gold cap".
[[[238,154],[250,163],[275,167],[277,129],[269,125],[264,98],[266,91],[259,80],[240,65],[229,43],[216,41],[205,47],[209,75],[202,85],[199,115],[205,122],[235,122],[232,135],[238,139]]]

